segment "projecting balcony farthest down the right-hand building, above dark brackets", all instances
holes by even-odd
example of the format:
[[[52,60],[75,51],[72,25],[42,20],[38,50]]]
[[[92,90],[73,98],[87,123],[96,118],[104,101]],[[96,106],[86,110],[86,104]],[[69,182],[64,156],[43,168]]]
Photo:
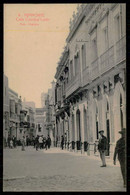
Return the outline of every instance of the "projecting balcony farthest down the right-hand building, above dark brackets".
[[[81,87],[80,73],[75,76],[66,86],[66,97],[71,95],[74,91]]]

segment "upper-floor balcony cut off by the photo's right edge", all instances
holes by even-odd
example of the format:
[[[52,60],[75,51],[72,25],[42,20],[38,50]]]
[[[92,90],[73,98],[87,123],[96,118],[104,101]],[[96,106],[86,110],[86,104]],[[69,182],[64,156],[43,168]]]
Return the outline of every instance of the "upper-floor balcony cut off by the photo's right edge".
[[[116,63],[126,58],[126,36],[116,43]]]

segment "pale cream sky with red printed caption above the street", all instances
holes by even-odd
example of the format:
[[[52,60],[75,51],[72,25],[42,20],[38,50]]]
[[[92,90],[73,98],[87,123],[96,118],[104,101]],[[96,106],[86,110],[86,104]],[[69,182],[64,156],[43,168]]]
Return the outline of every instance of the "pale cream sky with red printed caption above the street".
[[[77,4],[4,5],[4,74],[9,87],[36,107],[55,80],[76,8]]]

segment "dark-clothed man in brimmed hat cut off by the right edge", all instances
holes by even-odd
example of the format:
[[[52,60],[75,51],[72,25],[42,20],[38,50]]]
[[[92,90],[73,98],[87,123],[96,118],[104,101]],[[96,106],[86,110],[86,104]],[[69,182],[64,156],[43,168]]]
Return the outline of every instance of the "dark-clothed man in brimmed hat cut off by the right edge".
[[[121,167],[121,173],[124,181],[124,187],[126,187],[126,129],[123,128],[119,133],[122,135],[121,138],[116,142],[115,152],[113,156],[113,163],[116,165],[116,156]]]

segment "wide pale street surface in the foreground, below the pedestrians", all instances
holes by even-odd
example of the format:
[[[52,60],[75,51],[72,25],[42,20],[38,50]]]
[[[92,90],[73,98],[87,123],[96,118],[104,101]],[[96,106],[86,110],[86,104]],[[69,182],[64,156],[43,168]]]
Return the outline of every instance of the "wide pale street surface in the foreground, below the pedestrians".
[[[4,149],[3,161],[3,191],[125,191],[119,166],[87,155],[17,147]]]

